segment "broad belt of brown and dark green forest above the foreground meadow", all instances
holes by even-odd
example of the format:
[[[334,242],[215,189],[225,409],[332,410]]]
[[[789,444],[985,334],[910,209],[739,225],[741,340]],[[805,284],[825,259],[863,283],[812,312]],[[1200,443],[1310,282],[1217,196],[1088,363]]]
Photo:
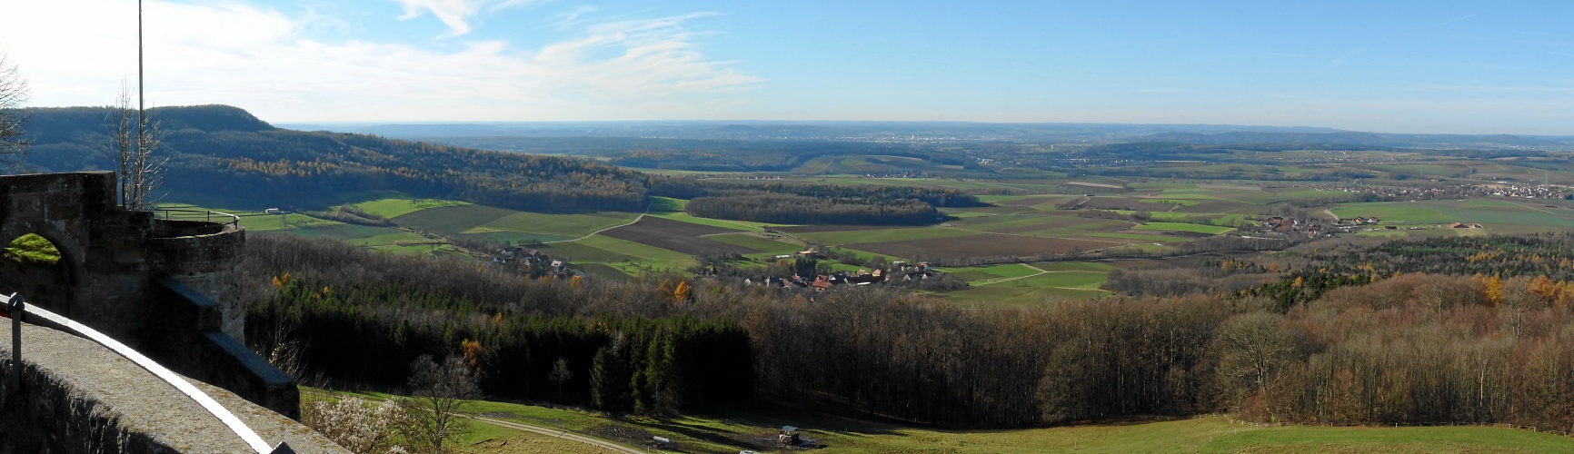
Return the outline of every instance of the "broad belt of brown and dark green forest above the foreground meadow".
[[[305,375],[335,385],[403,383],[401,368],[362,352],[398,357],[382,364],[436,353],[480,358],[494,397],[634,413],[787,399],[946,427],[1210,412],[1574,424],[1574,286],[1535,269],[1377,275],[1288,308],[1188,291],[963,309],[869,287],[804,297],[710,278],[527,280],[282,236],[249,250],[247,338],[260,350],[309,346]],[[1480,253],[1456,250],[1432,261]],[[1278,276],[1225,262],[1212,265]],[[563,383],[548,374],[559,358],[573,371]]]

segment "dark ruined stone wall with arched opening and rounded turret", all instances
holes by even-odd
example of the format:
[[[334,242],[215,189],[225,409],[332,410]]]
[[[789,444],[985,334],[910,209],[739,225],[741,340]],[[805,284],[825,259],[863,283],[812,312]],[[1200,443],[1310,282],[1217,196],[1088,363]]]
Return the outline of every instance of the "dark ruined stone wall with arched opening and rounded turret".
[[[109,171],[0,176],[0,245],[38,234],[54,265],[0,259],[0,292],[115,338],[161,364],[299,416],[294,382],[244,347],[236,292],[246,231],[116,206]]]

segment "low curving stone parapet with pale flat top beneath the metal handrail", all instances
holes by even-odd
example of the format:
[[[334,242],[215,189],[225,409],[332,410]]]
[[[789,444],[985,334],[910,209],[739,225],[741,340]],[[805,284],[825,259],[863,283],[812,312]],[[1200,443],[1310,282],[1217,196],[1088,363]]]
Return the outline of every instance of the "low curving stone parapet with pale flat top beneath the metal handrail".
[[[11,386],[11,322],[0,319],[0,452],[255,452],[217,416],[118,353],[63,331],[22,327]],[[312,429],[222,388],[189,380],[268,446],[348,452]]]

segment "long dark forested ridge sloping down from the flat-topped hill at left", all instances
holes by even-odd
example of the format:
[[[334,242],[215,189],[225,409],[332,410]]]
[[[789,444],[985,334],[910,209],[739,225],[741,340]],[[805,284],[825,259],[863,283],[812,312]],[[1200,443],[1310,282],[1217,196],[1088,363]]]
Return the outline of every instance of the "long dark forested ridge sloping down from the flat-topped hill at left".
[[[30,108],[27,163],[36,171],[104,170],[107,107]],[[165,189],[227,192],[290,206],[324,193],[398,190],[524,211],[628,211],[660,196],[790,193],[839,198],[841,204],[977,206],[944,189],[711,184],[644,174],[595,160],[480,151],[375,135],[275,129],[227,105],[162,107],[151,115],[165,132]],[[301,207],[307,209],[307,207]]]

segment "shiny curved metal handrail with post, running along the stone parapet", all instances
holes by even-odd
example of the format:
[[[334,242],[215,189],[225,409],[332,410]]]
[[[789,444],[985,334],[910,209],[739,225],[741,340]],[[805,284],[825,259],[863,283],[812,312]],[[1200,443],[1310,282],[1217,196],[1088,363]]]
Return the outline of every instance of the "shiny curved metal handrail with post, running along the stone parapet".
[[[197,390],[197,386],[192,386],[192,383],[186,382],[184,379],[181,379],[181,375],[175,374],[168,368],[164,368],[159,363],[150,360],[148,357],[143,357],[137,350],[126,347],[126,344],[121,344],[120,341],[115,341],[113,338],[99,333],[94,328],[88,328],[87,325],[77,324],[72,319],[66,319],[63,316],[58,316],[55,313],[46,311],[38,306],[28,306],[24,303],[22,295],[19,294],[11,294],[9,297],[0,295],[0,305],[11,308],[11,358],[14,361],[11,363],[11,368],[13,371],[17,371],[17,375],[14,379],[17,380],[17,385],[20,385],[20,371],[22,371],[22,360],[20,360],[22,316],[25,314],[25,316],[41,317],[63,331],[99,342],[101,346],[109,347],[115,353],[126,357],[132,363],[137,363],[137,366],[142,366],[148,372],[153,372],[153,375],[157,375],[165,383],[170,383],[170,386],[175,386],[175,390],[179,390],[187,397],[192,397],[192,401],[197,401],[198,405],[208,410],[208,413],[217,416],[219,421],[224,421],[224,424],[228,426],[230,430],[233,430],[236,435],[239,435],[241,440],[246,441],[246,445],[252,446],[252,451],[257,451],[258,454],[294,452],[293,449],[290,449],[290,445],[283,441],[280,441],[279,446],[268,448],[268,441],[263,441],[263,437],[257,435],[257,432],[252,430],[250,426],[246,426],[246,423],[242,423],[241,418],[236,418],[235,413],[230,413],[230,410],[220,405],[219,401],[214,401],[201,390]]]

